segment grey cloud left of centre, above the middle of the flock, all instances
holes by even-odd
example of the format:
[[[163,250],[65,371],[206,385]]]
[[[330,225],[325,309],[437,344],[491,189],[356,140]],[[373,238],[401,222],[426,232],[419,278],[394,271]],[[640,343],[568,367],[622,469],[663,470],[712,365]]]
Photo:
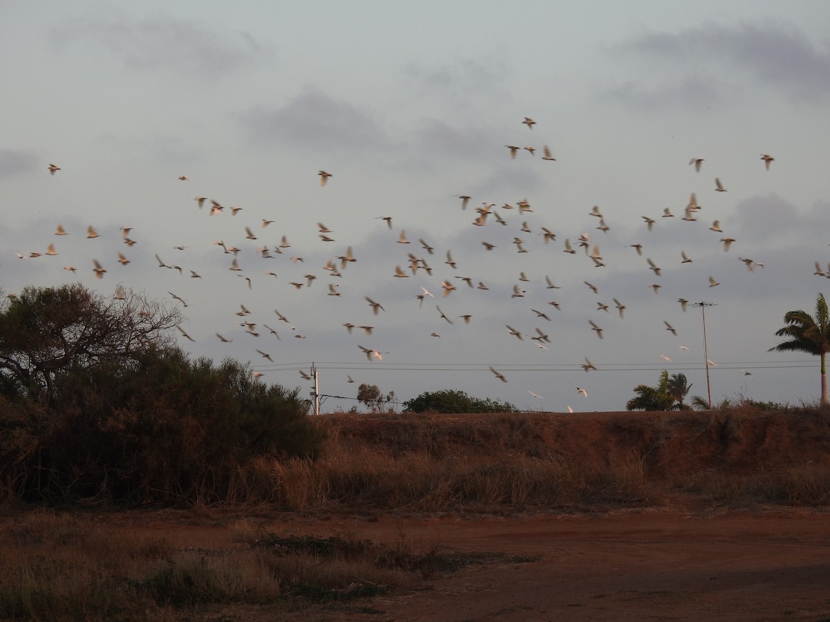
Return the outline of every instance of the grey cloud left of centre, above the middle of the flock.
[[[318,90],[306,90],[281,108],[256,106],[234,116],[253,143],[290,143],[310,150],[388,145],[369,112]]]

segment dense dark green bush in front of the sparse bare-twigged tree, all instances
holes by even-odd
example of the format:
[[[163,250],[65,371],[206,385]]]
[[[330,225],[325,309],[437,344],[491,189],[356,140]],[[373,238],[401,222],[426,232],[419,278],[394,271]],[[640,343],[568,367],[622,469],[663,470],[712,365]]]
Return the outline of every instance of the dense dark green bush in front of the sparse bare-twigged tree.
[[[76,360],[47,385],[47,400],[0,395],[0,497],[212,503],[251,460],[320,447],[299,389],[255,381],[231,359],[192,361],[164,339]]]

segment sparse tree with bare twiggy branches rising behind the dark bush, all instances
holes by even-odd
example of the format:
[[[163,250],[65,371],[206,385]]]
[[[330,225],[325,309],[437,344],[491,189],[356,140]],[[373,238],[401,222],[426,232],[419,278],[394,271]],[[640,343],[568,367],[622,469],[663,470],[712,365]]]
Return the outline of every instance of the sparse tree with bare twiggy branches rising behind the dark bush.
[[[0,302],[0,378],[4,395],[49,403],[71,369],[134,360],[174,343],[177,308],[132,291],[105,298],[81,284],[26,287]]]

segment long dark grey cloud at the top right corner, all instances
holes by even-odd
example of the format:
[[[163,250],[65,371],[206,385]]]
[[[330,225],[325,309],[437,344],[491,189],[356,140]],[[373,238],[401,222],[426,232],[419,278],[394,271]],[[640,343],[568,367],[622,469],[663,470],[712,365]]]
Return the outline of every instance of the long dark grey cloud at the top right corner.
[[[638,36],[612,46],[609,52],[669,61],[673,72],[685,63],[688,72],[706,75],[696,79],[703,85],[724,75],[749,75],[796,99],[824,100],[830,95],[830,48],[814,45],[798,28],[786,25],[706,23],[676,33]]]

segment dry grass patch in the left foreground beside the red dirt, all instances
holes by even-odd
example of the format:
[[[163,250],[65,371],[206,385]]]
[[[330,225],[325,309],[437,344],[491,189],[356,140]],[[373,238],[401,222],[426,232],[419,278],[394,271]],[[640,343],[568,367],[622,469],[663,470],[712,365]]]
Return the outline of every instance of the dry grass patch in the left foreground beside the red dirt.
[[[349,602],[412,588],[442,566],[435,547],[294,537],[237,524],[237,547],[176,550],[93,518],[17,513],[0,522],[2,620],[180,620],[211,606]]]

